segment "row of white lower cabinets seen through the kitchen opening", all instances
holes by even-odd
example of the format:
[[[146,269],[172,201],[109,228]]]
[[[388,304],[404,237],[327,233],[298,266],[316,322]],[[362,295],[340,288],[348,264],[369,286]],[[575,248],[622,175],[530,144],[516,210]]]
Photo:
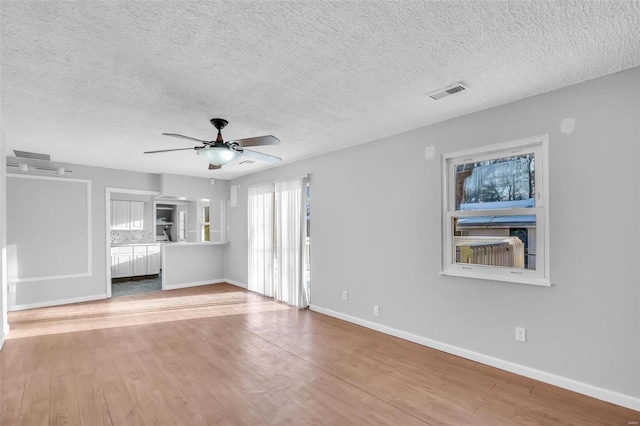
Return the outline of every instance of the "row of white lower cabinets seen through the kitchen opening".
[[[158,244],[111,247],[111,278],[158,273],[160,273]]]

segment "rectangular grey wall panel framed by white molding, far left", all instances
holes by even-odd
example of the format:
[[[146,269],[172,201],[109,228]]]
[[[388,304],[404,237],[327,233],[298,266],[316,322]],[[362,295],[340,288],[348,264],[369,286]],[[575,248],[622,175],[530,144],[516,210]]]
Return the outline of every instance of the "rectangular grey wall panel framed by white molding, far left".
[[[90,275],[90,181],[7,178],[10,281]]]

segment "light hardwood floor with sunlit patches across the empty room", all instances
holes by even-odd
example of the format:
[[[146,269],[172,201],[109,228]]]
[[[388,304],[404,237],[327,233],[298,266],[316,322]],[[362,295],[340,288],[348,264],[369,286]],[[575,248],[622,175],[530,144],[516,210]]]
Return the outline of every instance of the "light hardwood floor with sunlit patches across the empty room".
[[[1,425],[622,425],[640,413],[228,284],[11,312]]]

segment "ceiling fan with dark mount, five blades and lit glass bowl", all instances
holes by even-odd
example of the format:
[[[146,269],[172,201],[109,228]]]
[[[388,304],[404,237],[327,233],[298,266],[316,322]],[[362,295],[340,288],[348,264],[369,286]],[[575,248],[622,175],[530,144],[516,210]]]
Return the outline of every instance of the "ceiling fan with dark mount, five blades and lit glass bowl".
[[[170,152],[170,151],[186,151],[194,149],[202,158],[209,162],[209,170],[219,169],[225,164],[229,164],[232,161],[240,158],[241,156],[255,158],[256,160],[266,161],[267,163],[277,163],[282,161],[282,158],[275,157],[273,155],[264,154],[262,152],[252,151],[245,149],[248,146],[263,146],[263,145],[278,145],[280,139],[275,136],[257,136],[254,138],[236,139],[232,141],[224,141],[222,139],[221,130],[226,127],[229,122],[224,118],[212,118],[211,124],[218,129],[218,136],[214,141],[205,141],[201,139],[192,138],[190,136],[178,135],[176,133],[163,133],[165,136],[172,136],[174,138],[189,139],[192,141],[202,143],[202,146],[194,146],[193,148],[177,148],[177,149],[161,149],[159,151],[146,151],[145,154],[156,154],[158,152]]]

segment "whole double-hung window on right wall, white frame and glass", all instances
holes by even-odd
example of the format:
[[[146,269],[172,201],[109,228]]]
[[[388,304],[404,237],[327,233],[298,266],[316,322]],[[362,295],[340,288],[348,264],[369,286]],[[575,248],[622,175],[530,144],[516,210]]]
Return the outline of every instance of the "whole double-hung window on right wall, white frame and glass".
[[[549,286],[548,138],[443,157],[444,275]]]

